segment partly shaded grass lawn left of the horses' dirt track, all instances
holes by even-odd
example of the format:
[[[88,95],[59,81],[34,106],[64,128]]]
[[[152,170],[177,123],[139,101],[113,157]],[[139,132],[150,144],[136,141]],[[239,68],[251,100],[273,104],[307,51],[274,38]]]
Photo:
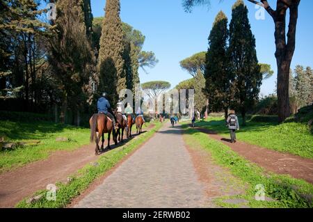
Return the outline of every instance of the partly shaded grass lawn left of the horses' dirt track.
[[[89,143],[90,129],[77,128],[70,125],[54,124],[53,122],[11,122],[0,121],[0,136],[6,140],[33,141],[38,145],[29,145],[14,150],[0,152],[0,173],[24,166],[33,161],[47,159],[51,152],[57,150],[74,150]],[[65,137],[69,140],[58,142],[56,138]]]

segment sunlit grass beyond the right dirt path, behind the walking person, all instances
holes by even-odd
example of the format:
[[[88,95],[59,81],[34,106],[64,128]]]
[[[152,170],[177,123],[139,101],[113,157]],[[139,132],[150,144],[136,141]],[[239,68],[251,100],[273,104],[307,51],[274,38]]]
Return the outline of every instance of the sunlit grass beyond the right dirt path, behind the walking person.
[[[230,136],[223,118],[209,118],[208,121],[196,122],[195,126],[213,130],[226,138]],[[239,141],[313,159],[313,134],[307,125],[300,122],[278,125],[274,122],[248,121],[246,127],[241,127],[236,135]]]

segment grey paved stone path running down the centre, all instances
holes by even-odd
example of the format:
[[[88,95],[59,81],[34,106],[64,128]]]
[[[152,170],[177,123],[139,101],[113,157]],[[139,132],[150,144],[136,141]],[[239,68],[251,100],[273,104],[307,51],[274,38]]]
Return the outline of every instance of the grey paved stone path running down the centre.
[[[181,130],[165,124],[74,207],[211,207]]]

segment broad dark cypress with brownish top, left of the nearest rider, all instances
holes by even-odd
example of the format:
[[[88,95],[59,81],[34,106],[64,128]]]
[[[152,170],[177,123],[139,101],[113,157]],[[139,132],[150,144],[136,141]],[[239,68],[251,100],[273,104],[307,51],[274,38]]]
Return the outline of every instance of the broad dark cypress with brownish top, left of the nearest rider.
[[[93,63],[81,3],[81,0],[56,3],[56,32],[50,42],[49,63],[62,90],[61,122],[65,122],[67,106],[79,111],[86,101],[84,88],[90,79]],[[77,120],[79,124],[79,118]]]

